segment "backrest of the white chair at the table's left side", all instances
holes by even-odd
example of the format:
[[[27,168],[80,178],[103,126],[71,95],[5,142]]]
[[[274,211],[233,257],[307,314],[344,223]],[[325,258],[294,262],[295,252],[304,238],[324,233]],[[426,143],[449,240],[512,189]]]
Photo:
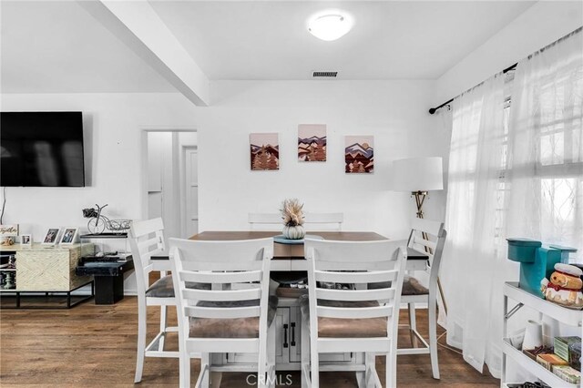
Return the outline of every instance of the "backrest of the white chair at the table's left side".
[[[148,290],[148,274],[152,271],[150,258],[166,252],[162,219],[133,221],[129,228],[129,246],[136,268],[138,296],[143,296]]]

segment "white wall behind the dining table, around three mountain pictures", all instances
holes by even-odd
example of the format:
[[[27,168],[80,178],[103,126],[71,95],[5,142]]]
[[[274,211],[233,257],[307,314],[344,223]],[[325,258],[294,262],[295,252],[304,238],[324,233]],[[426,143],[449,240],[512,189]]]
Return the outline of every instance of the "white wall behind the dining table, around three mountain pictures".
[[[448,139],[427,107],[430,81],[224,81],[197,108],[200,230],[244,230],[248,212],[277,212],[296,197],[312,212],[343,211],[344,230],[404,237],[414,200],[389,191],[391,161],[445,156]],[[297,161],[298,124],[328,126],[324,163]],[[251,171],[249,134],[280,134],[279,171]],[[375,168],[345,174],[344,135],[373,135]],[[427,218],[444,217],[443,193]]]

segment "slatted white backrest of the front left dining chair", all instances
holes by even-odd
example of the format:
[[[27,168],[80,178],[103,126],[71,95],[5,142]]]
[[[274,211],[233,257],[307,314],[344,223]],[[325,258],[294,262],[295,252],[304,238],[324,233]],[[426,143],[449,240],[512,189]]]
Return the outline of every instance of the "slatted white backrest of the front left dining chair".
[[[179,319],[188,337],[190,317],[234,319],[260,317],[266,332],[269,271],[273,239],[202,241],[170,239]],[[191,289],[189,282],[211,284]],[[243,301],[260,301],[245,305]],[[221,305],[224,302],[224,305]],[[235,302],[235,305],[229,302]],[[236,302],[242,304],[237,305]],[[184,321],[186,320],[186,321]]]

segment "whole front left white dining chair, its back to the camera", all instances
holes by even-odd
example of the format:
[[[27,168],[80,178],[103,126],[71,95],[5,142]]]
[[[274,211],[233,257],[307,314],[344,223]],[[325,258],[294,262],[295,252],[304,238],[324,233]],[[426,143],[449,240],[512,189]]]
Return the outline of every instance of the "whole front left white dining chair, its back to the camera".
[[[190,358],[200,352],[196,386],[209,387],[210,373],[256,372],[259,386],[275,385],[275,312],[269,295],[273,239],[170,239],[179,315],[179,383],[190,386]],[[211,284],[189,289],[188,282]],[[214,365],[211,353],[258,354],[251,369]]]

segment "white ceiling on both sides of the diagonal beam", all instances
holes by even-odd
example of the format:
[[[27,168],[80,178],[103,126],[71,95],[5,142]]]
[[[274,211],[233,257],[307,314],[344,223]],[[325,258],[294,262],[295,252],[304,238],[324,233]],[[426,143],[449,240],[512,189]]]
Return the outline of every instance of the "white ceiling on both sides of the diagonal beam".
[[[149,1],[211,80],[435,79],[535,2]],[[305,22],[336,5],[355,19],[334,42]],[[1,1],[3,93],[176,89],[75,1]]]

